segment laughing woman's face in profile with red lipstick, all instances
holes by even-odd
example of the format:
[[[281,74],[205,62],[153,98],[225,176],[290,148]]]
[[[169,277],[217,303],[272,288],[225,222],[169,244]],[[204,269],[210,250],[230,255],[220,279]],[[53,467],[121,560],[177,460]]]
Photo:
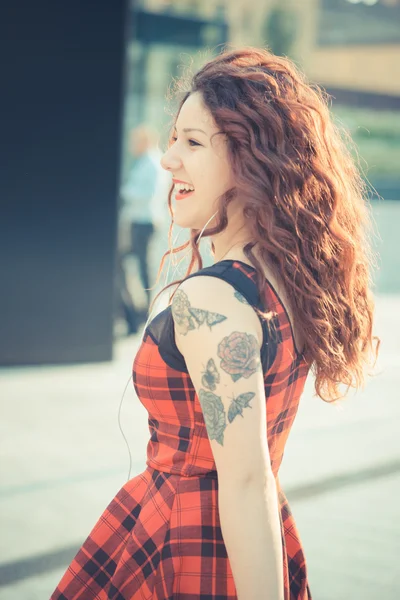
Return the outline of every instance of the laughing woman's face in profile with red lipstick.
[[[174,222],[180,227],[202,229],[217,211],[218,197],[234,185],[226,136],[212,138],[218,131],[201,94],[191,94],[178,115],[173,143],[161,159],[175,183]],[[181,182],[194,191],[181,194]]]

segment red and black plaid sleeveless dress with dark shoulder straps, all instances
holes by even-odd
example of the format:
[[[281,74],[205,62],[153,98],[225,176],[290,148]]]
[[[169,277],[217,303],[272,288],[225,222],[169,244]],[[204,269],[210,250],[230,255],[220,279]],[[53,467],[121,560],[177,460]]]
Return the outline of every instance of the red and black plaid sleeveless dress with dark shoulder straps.
[[[302,544],[278,478],[308,366],[268,280],[264,303],[260,299],[253,267],[223,260],[189,277],[202,275],[224,279],[239,292],[238,299],[275,313],[272,330],[263,324],[261,358],[281,509],[285,600],[310,600]],[[105,509],[51,600],[237,600],[219,521],[216,465],[197,394],[175,344],[170,306],[145,330],[133,383],[149,415],[147,468]]]

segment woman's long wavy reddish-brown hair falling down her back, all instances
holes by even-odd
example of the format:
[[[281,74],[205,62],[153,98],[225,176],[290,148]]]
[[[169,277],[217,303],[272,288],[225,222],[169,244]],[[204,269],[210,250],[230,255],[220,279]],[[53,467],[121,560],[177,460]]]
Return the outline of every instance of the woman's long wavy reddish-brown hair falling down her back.
[[[167,256],[188,247],[191,260],[184,277],[201,269],[200,233],[223,231],[227,206],[240,198],[254,240],[244,253],[256,269],[259,292],[263,297],[267,285],[265,262],[284,283],[316,394],[333,402],[350,387],[364,387],[365,367],[373,355],[375,365],[380,346],[372,337],[372,219],[368,188],[347,147],[347,134],[331,118],[329,97],[287,58],[252,47],[223,51],[190,80],[187,75],[178,80],[175,91],[183,97],[174,124],[189,95],[201,93],[226,134],[236,185],[219,198],[218,224],[204,233],[191,230],[190,239],[176,248],[171,188],[169,250],[158,278]],[[261,261],[253,252],[256,244]],[[154,301],[182,281],[165,286]],[[347,386],[345,394],[339,393],[341,384]]]

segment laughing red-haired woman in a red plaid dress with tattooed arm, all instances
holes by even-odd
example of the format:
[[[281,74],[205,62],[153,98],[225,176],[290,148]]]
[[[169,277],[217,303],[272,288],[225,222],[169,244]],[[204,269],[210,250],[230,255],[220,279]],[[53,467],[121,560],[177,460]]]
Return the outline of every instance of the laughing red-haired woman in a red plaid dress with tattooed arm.
[[[321,93],[255,48],[194,76],[162,166],[192,261],[134,360],[147,469],[52,599],[310,599],[278,474],[309,370],[330,402],[378,352],[360,176]]]

